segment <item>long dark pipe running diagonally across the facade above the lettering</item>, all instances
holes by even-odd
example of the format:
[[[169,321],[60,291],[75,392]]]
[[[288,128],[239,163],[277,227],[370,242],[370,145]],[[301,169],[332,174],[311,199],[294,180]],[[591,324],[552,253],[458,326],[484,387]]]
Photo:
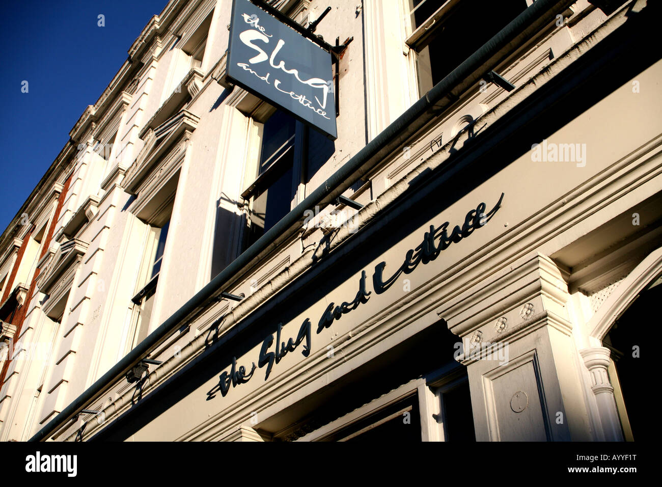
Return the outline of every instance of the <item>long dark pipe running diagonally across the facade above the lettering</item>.
[[[205,307],[210,305],[221,292],[230,292],[232,285],[250,268],[251,264],[273,252],[296,233],[305,217],[304,212],[318,206],[324,208],[344,193],[357,180],[367,174],[383,158],[399,148],[410,136],[437,118],[444,109],[457,101],[459,96],[478,83],[485,74],[499,64],[516,44],[519,38],[530,38],[533,34],[551,23],[558,13],[575,3],[575,0],[537,0],[506,27],[488,40],[465,62],[457,66],[446,78],[434,85],[428,93],[407,109],[391,125],[386,127],[371,142],[363,147],[344,166],[304,199],[295,209],[269,229],[258,241],[233,260],[217,274],[193,298],[177,309],[160,327],[128,352],[111,370],[103,374],[83,394],[56,415],[30,441],[44,441],[66,425],[70,419],[97,400],[109,384],[120,380],[128,370],[146,358],[156,347],[164,343],[177,331],[182,323],[191,321]]]

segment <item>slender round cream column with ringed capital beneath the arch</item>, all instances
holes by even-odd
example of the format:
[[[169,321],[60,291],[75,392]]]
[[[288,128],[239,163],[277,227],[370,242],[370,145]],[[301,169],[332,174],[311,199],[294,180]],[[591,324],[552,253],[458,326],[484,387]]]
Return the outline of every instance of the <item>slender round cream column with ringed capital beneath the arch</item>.
[[[607,368],[609,366],[609,349],[605,347],[592,347],[579,351],[589,372],[591,372],[591,390],[595,394],[598,405],[600,423],[606,441],[624,441],[620,426],[614,386],[609,381]]]

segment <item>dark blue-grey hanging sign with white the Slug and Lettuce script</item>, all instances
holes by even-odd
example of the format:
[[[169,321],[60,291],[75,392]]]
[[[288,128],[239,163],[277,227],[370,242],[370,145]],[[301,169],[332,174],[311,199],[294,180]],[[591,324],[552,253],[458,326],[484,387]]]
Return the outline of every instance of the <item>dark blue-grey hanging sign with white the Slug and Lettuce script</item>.
[[[336,99],[331,54],[248,0],[234,0],[228,76],[332,140]]]

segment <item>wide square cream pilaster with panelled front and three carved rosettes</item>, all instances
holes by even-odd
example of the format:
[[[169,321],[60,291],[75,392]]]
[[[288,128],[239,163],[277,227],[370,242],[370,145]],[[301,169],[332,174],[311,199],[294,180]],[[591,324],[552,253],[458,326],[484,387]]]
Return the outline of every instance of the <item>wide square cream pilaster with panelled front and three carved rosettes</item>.
[[[438,315],[462,339],[478,441],[591,441],[566,275],[530,254]]]

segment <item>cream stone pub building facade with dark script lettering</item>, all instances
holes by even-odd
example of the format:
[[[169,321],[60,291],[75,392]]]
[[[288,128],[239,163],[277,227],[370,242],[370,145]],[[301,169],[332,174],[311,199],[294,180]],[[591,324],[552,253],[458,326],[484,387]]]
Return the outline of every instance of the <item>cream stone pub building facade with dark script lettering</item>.
[[[169,1],[1,237],[0,439],[645,438],[659,6],[493,4],[254,1],[332,140]]]

